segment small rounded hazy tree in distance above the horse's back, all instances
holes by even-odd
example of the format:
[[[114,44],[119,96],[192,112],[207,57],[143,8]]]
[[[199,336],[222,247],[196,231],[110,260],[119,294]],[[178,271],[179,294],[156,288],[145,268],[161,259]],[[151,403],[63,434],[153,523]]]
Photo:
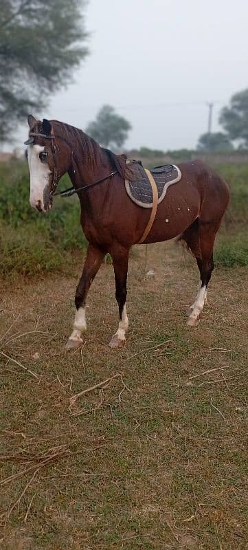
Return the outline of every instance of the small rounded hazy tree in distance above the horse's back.
[[[111,105],[103,105],[86,132],[104,147],[120,148],[128,137],[132,126],[126,118],[117,115]]]

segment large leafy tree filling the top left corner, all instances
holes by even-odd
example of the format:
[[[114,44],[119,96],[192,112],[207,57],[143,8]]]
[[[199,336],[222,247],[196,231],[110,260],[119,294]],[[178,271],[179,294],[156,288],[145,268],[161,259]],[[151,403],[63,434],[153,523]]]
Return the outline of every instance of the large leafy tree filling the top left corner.
[[[84,0],[1,0],[0,142],[10,141],[30,110],[71,82],[87,55]]]

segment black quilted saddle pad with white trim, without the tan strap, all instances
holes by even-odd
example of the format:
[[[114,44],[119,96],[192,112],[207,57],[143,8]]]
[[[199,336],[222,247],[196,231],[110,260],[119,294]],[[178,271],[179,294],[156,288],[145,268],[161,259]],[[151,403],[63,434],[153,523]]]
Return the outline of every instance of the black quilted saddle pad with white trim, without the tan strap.
[[[139,162],[130,163],[132,179],[126,180],[126,192],[133,202],[142,208],[152,208],[153,190],[148,175]],[[150,170],[157,185],[159,202],[166,196],[168,187],[181,179],[181,172],[174,164],[155,166]]]

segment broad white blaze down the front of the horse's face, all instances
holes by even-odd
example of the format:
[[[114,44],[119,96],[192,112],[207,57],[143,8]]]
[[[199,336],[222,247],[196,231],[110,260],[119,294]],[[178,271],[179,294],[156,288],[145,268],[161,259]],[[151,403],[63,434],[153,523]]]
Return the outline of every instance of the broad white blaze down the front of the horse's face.
[[[27,147],[27,159],[30,166],[30,205],[33,208],[46,210],[44,206],[44,190],[49,185],[49,176],[51,174],[48,164],[41,162],[39,154],[45,147],[41,145],[29,145]]]

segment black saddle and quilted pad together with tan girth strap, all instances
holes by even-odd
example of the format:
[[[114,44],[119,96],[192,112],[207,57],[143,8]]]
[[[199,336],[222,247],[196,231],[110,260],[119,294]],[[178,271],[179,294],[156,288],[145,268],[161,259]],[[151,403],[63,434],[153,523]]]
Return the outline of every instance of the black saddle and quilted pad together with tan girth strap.
[[[146,229],[137,244],[142,244],[153,227],[157,205],[166,196],[168,187],[181,179],[181,172],[174,164],[155,166],[152,170],[143,168],[141,162],[127,160],[131,168],[131,179],[125,180],[126,192],[138,206],[151,208]]]

